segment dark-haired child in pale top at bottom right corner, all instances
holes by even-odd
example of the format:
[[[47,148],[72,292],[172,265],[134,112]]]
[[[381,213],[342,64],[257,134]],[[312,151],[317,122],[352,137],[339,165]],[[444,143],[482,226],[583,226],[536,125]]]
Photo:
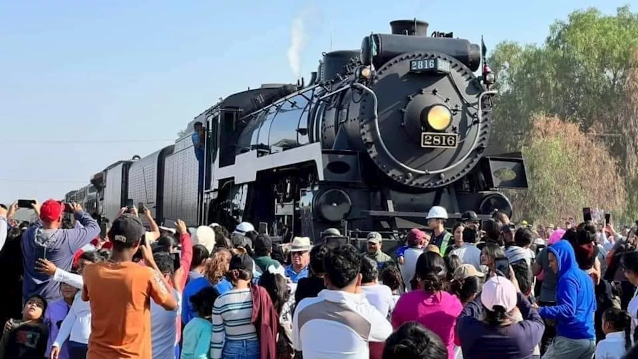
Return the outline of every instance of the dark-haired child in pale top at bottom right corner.
[[[605,339],[596,346],[596,359],[620,359],[632,346],[632,318],[625,310],[610,308],[602,314]]]

